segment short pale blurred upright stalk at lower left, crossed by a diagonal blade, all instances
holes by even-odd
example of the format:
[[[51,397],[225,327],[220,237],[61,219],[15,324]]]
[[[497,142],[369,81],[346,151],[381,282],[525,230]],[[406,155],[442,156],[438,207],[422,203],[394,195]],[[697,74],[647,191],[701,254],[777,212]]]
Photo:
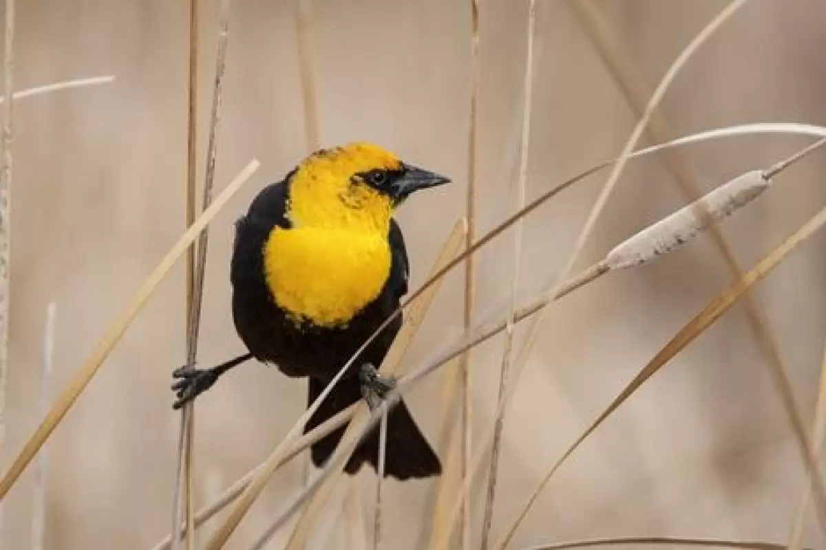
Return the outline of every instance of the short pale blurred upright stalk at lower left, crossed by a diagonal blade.
[[[43,370],[40,374],[40,398],[37,410],[45,415],[49,407],[51,377],[55,371],[55,303],[46,308],[46,323],[43,331]],[[46,448],[37,457],[35,464],[35,491],[31,510],[31,550],[46,548]]]

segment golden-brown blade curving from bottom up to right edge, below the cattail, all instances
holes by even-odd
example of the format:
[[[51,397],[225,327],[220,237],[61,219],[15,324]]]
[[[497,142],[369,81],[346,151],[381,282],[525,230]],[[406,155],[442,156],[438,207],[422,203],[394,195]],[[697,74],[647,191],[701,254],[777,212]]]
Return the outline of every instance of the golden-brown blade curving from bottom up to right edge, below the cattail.
[[[553,464],[553,467],[548,470],[548,473],[539,483],[539,486],[531,494],[528,501],[526,501],[525,505],[520,510],[520,513],[516,516],[515,521],[510,524],[510,528],[501,539],[501,543],[496,545],[496,548],[499,548],[500,550],[504,550],[504,548],[506,548],[507,544],[510,543],[510,540],[513,538],[516,529],[519,528],[520,524],[525,519],[525,516],[528,515],[531,506],[534,505],[534,502],[539,497],[539,494],[543,488],[548,484],[551,477],[553,477],[553,474],[557,472],[558,468],[565,463],[567,458],[574,453],[579,445],[582,444],[582,442],[586,440],[588,436],[596,430],[596,428],[598,428],[609,416],[611,416],[629,397],[631,397],[638,390],[638,388],[643,385],[643,383],[647,382],[648,379],[656,374],[659,369],[672,360],[676,354],[685,349],[686,346],[688,346],[707,328],[714,324],[719,317],[722,317],[724,313],[728,312],[733,304],[736,303],[748,289],[750,289],[759,280],[762,280],[763,277],[768,275],[768,273],[778,266],[791,251],[795,250],[795,248],[800,246],[800,244],[805,242],[805,240],[822,228],[824,223],[826,223],[826,209],[822,209],[818,214],[815,214],[814,217],[809,219],[809,221],[805,223],[802,228],[786,239],[785,242],[781,243],[779,247],[776,247],[773,251],[771,251],[768,256],[763,258],[763,260],[760,261],[757,266],[754,266],[752,270],[743,275],[740,280],[729,286],[729,288],[724,289],[720,294],[712,299],[710,303],[708,303],[708,305],[700,311],[700,313],[692,318],[690,322],[686,323],[686,325],[682,327],[681,330],[678,331],[665,346],[662,347],[657,355],[654,355],[653,359],[645,365],[645,367],[624,388],[624,390],[619,393],[617,397],[615,397],[614,401],[610,403],[605,411],[603,411],[601,415],[596,418],[596,421],[594,421],[584,432],[582,432],[582,435],[574,441],[574,443],[565,451],[563,456]],[[806,460],[806,463],[810,468],[813,467],[811,460]]]

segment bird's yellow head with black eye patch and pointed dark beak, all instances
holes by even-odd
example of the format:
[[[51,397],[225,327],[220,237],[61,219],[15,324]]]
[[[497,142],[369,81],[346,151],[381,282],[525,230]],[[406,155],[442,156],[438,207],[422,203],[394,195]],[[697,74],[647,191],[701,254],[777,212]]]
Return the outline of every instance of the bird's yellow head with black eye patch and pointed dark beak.
[[[294,227],[380,231],[416,190],[450,180],[401,162],[373,143],[322,149],[298,165],[287,215]]]

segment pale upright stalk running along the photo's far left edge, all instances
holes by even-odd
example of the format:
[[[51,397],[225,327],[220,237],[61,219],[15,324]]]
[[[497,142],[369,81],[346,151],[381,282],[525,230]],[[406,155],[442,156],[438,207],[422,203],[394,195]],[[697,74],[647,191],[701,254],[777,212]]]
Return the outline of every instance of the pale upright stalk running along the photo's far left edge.
[[[4,96],[2,127],[2,168],[0,168],[0,464],[6,463],[6,392],[8,377],[9,301],[12,271],[12,105],[14,104],[14,8],[15,0],[6,0],[6,25],[3,40]],[[2,546],[3,506],[0,501],[0,546]]]

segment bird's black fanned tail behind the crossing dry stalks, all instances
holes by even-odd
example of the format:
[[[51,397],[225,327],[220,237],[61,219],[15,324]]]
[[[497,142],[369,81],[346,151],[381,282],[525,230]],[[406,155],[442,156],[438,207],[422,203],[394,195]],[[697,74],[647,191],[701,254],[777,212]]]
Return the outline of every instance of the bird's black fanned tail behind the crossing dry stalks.
[[[325,384],[313,378],[309,380],[309,402],[316,400],[325,388]],[[304,433],[312,430],[317,425],[326,421],[330,416],[335,416],[340,411],[349,407],[354,402],[362,398],[361,387],[357,378],[346,378],[339,380],[335,388],[330,392],[321,407],[310,417],[304,427]],[[333,454],[336,445],[339,444],[341,436],[344,435],[346,425],[335,430],[324,439],[312,446],[312,462],[316,467],[320,467],[325,460]],[[344,467],[344,471],[354,474],[367,461],[377,469],[378,464],[378,428],[373,429],[370,434],[355,449],[353,456]],[[396,477],[396,479],[409,479],[411,477],[430,477],[439,475],[442,472],[442,465],[439,457],[430,447],[425,436],[415,424],[410,411],[405,402],[400,401],[396,407],[390,411],[387,417],[387,454],[384,463],[385,477]]]

